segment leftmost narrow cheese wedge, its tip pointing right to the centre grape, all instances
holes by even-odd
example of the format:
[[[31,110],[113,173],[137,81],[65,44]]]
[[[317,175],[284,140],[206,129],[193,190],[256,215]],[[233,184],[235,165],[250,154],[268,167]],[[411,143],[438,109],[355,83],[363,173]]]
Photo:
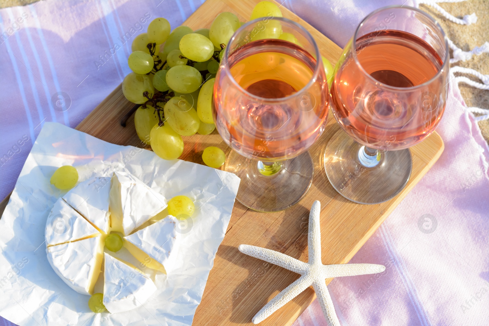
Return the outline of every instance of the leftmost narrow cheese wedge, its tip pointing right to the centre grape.
[[[66,243],[100,235],[84,217],[69,206],[63,198],[53,205],[47,217],[44,236],[46,245]]]

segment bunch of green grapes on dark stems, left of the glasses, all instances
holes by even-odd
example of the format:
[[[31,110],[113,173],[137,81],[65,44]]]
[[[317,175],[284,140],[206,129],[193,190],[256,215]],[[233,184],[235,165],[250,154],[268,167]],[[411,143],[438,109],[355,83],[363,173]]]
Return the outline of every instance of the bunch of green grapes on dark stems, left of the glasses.
[[[132,50],[132,72],[124,78],[122,92],[135,106],[121,124],[134,114],[141,142],[164,159],[178,158],[182,136],[215,129],[213,121],[200,121],[197,103],[200,87],[219,69],[221,48],[209,39],[209,29],[194,32],[179,26],[172,31],[166,19],[156,18],[134,39]]]

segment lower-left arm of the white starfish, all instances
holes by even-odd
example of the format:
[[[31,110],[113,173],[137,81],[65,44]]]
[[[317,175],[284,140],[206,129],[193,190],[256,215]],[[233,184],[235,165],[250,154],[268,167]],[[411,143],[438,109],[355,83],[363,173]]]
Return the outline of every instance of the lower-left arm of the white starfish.
[[[287,304],[290,300],[298,296],[302,291],[307,289],[312,283],[308,276],[301,276],[295,282],[287,286],[282,292],[270,300],[251,320],[253,324],[263,322],[268,316]]]

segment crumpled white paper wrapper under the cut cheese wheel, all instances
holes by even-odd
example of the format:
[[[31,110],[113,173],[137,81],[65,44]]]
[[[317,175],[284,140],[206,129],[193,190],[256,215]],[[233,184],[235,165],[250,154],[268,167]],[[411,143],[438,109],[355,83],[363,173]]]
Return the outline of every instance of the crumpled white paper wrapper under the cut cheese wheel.
[[[49,179],[63,165],[77,168],[79,181],[126,170],[170,199],[186,195],[196,211],[183,226],[181,258],[171,275],[141,268],[157,286],[136,309],[94,314],[89,296],[76,293],[46,258],[44,229],[54,202],[66,192]],[[191,325],[214,257],[231,217],[240,179],[200,164],[165,161],[155,153],[104,142],[57,123],[45,123],[0,219],[0,315],[27,325]],[[165,217],[167,211],[160,213]],[[113,253],[111,253],[113,254]],[[140,264],[122,248],[116,257]],[[96,292],[103,290],[99,278]]]

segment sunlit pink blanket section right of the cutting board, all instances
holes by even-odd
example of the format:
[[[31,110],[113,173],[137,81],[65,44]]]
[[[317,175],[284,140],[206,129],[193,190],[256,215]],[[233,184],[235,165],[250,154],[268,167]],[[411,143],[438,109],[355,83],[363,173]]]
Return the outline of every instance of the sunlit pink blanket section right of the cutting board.
[[[450,85],[445,151],[350,262],[386,266],[328,286],[342,326],[487,326],[488,147]],[[314,301],[293,326],[326,325]]]

